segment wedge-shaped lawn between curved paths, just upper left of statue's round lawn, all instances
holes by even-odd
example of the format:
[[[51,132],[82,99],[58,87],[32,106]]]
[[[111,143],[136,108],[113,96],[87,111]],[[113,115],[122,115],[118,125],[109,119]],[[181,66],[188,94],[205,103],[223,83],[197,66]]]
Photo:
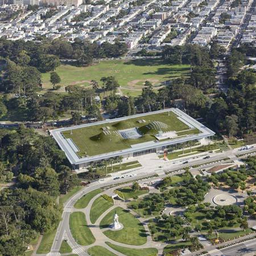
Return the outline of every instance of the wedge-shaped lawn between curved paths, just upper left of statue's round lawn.
[[[104,199],[102,196],[98,197],[92,205],[90,209],[90,221],[92,224],[96,222],[96,220],[103,214],[106,210],[112,207],[113,204],[108,200]]]

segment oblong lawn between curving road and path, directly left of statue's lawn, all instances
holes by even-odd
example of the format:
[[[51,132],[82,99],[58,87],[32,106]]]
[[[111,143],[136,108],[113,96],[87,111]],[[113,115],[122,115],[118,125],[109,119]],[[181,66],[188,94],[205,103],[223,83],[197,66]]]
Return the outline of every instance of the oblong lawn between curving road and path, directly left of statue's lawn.
[[[86,223],[84,213],[71,213],[69,217],[69,228],[73,238],[75,238],[79,245],[91,245],[95,242],[95,238]]]

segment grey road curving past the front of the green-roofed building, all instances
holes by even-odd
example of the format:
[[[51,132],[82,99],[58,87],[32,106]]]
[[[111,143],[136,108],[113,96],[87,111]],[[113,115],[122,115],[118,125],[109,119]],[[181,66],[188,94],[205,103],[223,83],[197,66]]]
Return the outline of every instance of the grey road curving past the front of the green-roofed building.
[[[51,253],[49,253],[48,255],[49,256],[59,256],[60,255],[59,249],[61,246],[61,242],[65,238],[68,238],[68,240],[71,242],[71,244],[72,244],[71,247],[73,249],[73,253],[77,253],[80,256],[88,255],[87,253],[85,253],[83,251],[82,247],[77,244],[77,242],[72,237],[72,234],[69,230],[69,215],[72,211],[72,207],[76,203],[76,201],[79,200],[86,193],[89,193],[90,191],[93,191],[94,189],[97,189],[97,188],[107,187],[110,185],[118,185],[119,183],[122,183],[123,181],[129,182],[129,181],[133,181],[135,179],[154,180],[154,179],[159,179],[159,178],[163,178],[166,176],[170,176],[170,174],[166,175],[163,171],[170,171],[171,175],[175,175],[175,174],[177,174],[177,171],[180,170],[181,168],[191,167],[192,165],[196,165],[196,164],[207,164],[207,162],[218,161],[220,159],[226,158],[227,156],[232,160],[238,160],[236,155],[237,154],[245,154],[245,153],[255,154],[256,148],[254,147],[254,148],[251,148],[250,150],[245,150],[245,151],[239,151],[238,149],[236,149],[236,150],[229,150],[229,151],[225,151],[225,152],[221,152],[221,153],[216,153],[210,159],[202,159],[203,156],[200,156],[200,158],[195,158],[195,156],[194,157],[191,156],[190,159],[188,158],[189,162],[187,164],[182,164],[182,166],[181,166],[181,163],[179,160],[177,160],[175,162],[175,164],[173,162],[169,162],[169,163],[167,162],[167,164],[165,164],[165,166],[162,167],[162,170],[161,170],[163,175],[159,175],[158,177],[148,178],[157,173],[155,171],[157,171],[156,169],[158,167],[152,167],[151,173],[150,173],[150,170],[147,170],[147,173],[143,172],[143,170],[142,170],[141,171],[142,175],[137,175],[135,177],[127,177],[125,180],[123,180],[123,179],[110,180],[108,178],[108,179],[101,181],[101,183],[99,181],[94,181],[93,183],[89,184],[88,187],[85,187],[84,189],[82,189],[82,191],[80,191],[79,193],[77,193],[76,195],[71,197],[71,199],[69,199],[67,201],[67,203],[64,205],[62,220],[57,228],[57,232],[56,232],[55,240],[52,245]],[[181,161],[184,161],[184,159]]]

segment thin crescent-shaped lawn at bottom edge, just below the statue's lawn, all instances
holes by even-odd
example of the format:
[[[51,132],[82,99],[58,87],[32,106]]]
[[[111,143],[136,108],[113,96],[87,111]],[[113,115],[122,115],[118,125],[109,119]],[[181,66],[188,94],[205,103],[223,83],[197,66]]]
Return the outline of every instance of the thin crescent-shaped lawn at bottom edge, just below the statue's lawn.
[[[131,249],[119,245],[113,245],[110,242],[106,242],[106,244],[112,249],[119,251],[119,253],[125,254],[127,256],[156,256],[158,255],[158,250],[155,248],[147,248],[147,249]]]

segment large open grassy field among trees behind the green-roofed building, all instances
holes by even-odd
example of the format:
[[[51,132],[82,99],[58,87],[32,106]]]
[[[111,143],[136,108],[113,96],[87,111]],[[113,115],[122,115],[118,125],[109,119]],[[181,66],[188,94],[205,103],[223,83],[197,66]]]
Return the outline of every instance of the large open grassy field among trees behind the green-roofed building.
[[[153,85],[160,82],[187,76],[190,73],[189,65],[168,65],[159,59],[139,60],[104,60],[89,67],[75,67],[60,65],[56,72],[61,78],[60,85],[90,86],[91,80],[101,85],[101,77],[114,76],[121,85],[124,94],[138,95],[141,93],[143,83],[148,80]],[[42,73],[44,89],[52,88],[49,82],[49,73]],[[61,89],[64,92],[64,89]]]

